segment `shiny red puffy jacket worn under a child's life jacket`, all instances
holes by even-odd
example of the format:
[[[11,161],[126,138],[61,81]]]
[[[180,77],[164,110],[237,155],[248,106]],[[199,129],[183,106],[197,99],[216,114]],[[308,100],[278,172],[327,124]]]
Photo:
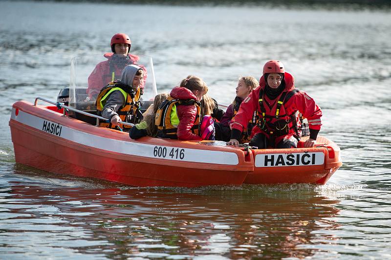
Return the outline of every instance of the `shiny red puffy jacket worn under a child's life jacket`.
[[[174,99],[180,100],[197,100],[197,97],[187,88],[174,87],[170,93]],[[201,137],[192,133],[192,127],[197,116],[195,105],[177,105],[176,114],[179,124],[176,130],[176,136],[179,140],[202,140]]]

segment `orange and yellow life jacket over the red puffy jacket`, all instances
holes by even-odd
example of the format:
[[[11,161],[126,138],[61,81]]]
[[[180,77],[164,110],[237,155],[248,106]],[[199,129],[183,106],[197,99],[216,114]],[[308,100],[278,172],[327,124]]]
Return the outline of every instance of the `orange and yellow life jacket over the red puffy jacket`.
[[[161,138],[178,139],[176,130],[179,124],[179,118],[176,113],[176,105],[195,105],[197,115],[194,125],[191,128],[192,133],[199,135],[199,117],[201,114],[201,104],[197,100],[179,100],[168,97],[164,100],[156,111],[155,124],[157,126],[157,136]]]

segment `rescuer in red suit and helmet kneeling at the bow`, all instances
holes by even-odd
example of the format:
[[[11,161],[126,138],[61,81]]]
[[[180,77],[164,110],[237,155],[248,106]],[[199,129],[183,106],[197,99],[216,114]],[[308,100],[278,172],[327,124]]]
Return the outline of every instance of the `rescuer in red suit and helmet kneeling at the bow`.
[[[259,120],[251,133],[249,145],[259,149],[267,147],[295,148],[301,137],[299,112],[308,120],[310,137],[304,147],[313,147],[321,129],[322,111],[304,91],[294,86],[294,78],[285,72],[278,60],[263,66],[260,86],[240,104],[238,113],[230,122],[231,140],[228,145],[239,146],[244,126],[258,111]]]

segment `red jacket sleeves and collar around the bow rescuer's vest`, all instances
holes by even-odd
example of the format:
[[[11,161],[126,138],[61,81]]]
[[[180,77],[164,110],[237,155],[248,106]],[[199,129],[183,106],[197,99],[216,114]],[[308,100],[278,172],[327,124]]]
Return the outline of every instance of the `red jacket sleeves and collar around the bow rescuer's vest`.
[[[294,78],[289,73],[285,72],[284,75],[285,80],[285,89],[283,92],[293,90],[294,86]],[[235,115],[235,118],[231,120],[230,126],[232,129],[238,129],[239,131],[243,131],[243,126],[247,126],[247,123],[253,117],[254,111],[258,110],[259,115],[262,115],[261,107],[259,103],[259,95],[260,90],[265,88],[265,80],[264,77],[261,77],[260,86],[254,89],[251,94],[245,98],[240,104],[240,108],[238,113]],[[266,95],[263,95],[263,99],[267,101],[271,105],[269,108],[267,105],[264,105],[266,110],[266,115],[274,116],[276,114],[276,106],[277,101],[280,100],[282,94],[280,94],[275,100],[270,100]],[[321,117],[322,111],[320,107],[315,103],[315,101],[309,97],[304,91],[296,92],[289,100],[284,103],[280,108],[280,115],[292,115],[296,111],[299,111],[303,114],[305,118],[308,120],[308,125],[310,129],[320,130],[321,129]],[[299,115],[296,114],[296,122],[297,127],[300,129],[301,122],[299,120]],[[259,127],[254,127],[251,132],[251,138],[257,133],[264,133],[266,136],[269,136],[268,133],[262,131]],[[289,129],[288,135],[294,135],[295,130],[293,128]],[[286,138],[287,136],[285,136]],[[281,138],[278,138],[281,139]],[[276,139],[277,140],[277,139]],[[277,141],[276,141],[277,142]]]

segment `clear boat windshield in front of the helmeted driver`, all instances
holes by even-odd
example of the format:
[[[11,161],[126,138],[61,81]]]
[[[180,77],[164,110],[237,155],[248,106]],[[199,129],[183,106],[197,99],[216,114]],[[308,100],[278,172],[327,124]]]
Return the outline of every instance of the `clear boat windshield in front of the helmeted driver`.
[[[121,79],[122,69],[129,64],[143,70],[141,100],[151,101],[157,94],[152,58],[143,55],[128,56],[112,53],[74,57],[70,66],[69,106],[95,110],[95,101],[100,90],[110,81]]]

